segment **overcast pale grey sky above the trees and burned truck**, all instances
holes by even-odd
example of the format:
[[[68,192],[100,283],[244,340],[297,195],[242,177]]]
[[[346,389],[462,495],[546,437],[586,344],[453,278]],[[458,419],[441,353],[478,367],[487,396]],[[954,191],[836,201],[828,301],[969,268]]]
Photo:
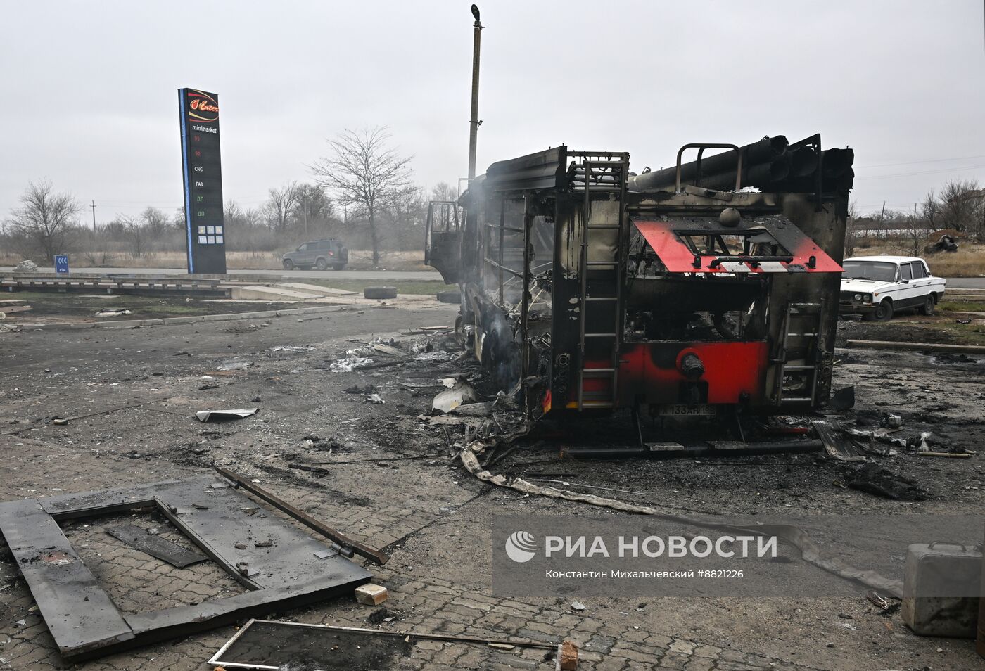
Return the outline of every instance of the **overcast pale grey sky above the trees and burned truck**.
[[[390,126],[422,185],[454,182],[469,4],[4,0],[0,216],[44,176],[99,221],[173,211],[183,86],[219,94],[225,196],[245,207],[365,124]],[[855,149],[863,211],[985,182],[982,0],[480,5],[480,172],[560,143],[639,170],[688,142],[820,131]]]

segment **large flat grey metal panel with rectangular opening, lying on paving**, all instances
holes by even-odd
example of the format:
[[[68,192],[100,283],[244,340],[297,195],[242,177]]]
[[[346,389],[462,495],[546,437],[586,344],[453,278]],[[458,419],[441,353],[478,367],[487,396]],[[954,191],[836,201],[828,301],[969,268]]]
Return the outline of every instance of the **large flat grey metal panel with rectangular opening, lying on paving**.
[[[57,520],[149,507],[251,591],[192,606],[120,613]],[[351,593],[372,577],[338,552],[325,556],[324,544],[212,476],[0,503],[0,531],[59,651],[73,660]]]

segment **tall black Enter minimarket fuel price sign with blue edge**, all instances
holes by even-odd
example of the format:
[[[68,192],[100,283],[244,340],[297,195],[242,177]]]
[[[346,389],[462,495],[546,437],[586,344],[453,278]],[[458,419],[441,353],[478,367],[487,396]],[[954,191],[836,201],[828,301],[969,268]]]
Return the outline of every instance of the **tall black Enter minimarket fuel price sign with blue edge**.
[[[219,96],[178,89],[189,273],[226,273]]]

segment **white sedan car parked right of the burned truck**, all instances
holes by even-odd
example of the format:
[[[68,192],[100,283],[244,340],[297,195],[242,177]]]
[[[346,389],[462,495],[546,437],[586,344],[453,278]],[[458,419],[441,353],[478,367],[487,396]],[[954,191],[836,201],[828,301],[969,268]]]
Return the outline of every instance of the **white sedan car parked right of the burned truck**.
[[[855,256],[841,265],[841,314],[888,321],[899,310],[916,308],[930,315],[944,297],[947,281],[931,275],[916,256]]]

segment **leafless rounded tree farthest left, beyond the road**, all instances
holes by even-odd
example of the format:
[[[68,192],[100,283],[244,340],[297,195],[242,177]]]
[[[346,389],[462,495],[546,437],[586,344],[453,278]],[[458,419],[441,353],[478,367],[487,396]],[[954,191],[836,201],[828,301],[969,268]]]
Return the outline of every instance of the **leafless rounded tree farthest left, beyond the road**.
[[[68,193],[55,193],[47,179],[29,182],[21,196],[21,207],[13,210],[7,220],[7,229],[53,263],[55,254],[68,251],[79,210],[75,198]]]

